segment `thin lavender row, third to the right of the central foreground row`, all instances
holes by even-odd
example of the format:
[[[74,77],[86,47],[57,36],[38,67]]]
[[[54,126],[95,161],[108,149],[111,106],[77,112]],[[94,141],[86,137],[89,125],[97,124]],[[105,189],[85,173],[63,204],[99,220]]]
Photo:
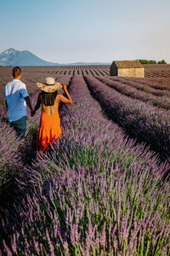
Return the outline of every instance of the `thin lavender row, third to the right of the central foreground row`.
[[[141,84],[139,82],[139,80],[138,81],[133,81],[133,79],[131,79],[131,78],[128,79],[128,78],[110,77],[110,79],[113,80],[113,81],[122,82],[122,84],[127,84],[127,85],[130,85],[130,86],[133,86],[137,90],[142,90],[145,93],[153,94],[155,96],[166,96],[166,97],[170,96],[170,91],[169,90],[158,90],[158,89],[151,88],[150,85],[147,82],[145,84]]]

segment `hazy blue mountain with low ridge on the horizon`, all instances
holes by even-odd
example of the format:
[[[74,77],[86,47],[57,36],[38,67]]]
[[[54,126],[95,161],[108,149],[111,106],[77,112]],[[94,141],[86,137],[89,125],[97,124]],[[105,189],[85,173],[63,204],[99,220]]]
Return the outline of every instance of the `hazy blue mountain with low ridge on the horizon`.
[[[43,61],[28,50],[5,49],[0,54],[0,66],[65,66],[65,65],[110,65],[102,62],[76,62],[59,64]]]

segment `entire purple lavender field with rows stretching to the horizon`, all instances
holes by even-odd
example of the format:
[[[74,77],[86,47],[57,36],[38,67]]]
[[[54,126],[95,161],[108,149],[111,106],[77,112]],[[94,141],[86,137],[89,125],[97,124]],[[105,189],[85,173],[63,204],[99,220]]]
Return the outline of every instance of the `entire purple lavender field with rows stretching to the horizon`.
[[[36,154],[41,110],[26,141],[7,123],[0,67],[0,255],[170,255],[170,67],[145,78],[109,76],[109,66],[22,67],[36,82],[67,84],[62,137]]]

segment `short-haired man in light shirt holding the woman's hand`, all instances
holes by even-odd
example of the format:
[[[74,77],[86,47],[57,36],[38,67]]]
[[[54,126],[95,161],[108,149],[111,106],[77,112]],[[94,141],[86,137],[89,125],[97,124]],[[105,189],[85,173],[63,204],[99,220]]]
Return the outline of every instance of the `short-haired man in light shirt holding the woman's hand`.
[[[14,79],[5,85],[4,96],[8,110],[8,121],[22,139],[26,134],[26,105],[31,109],[31,112],[32,106],[26,90],[26,84],[20,81],[21,76],[20,67],[14,67]]]

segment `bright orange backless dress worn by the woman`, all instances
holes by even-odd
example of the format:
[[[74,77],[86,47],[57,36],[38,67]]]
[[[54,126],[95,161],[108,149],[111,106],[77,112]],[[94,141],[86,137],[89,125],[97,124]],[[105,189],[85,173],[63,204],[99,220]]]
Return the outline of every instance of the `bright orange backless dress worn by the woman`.
[[[48,143],[52,143],[61,135],[59,112],[47,114],[42,110],[40,126],[37,131],[37,150],[48,148]]]

